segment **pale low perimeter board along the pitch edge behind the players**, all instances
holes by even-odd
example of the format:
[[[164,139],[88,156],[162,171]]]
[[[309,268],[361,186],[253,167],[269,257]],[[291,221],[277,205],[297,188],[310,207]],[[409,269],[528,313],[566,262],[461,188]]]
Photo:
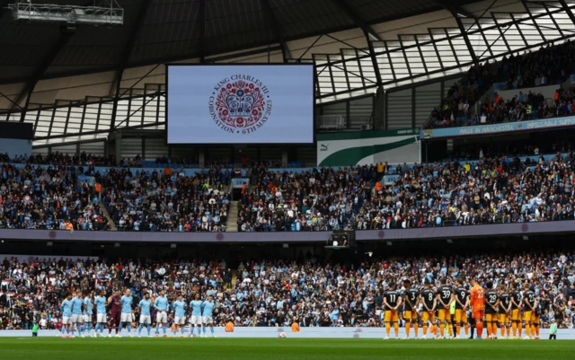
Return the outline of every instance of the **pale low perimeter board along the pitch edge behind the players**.
[[[279,333],[285,332],[286,338],[384,338],[383,328],[301,328],[300,332],[292,332],[291,328],[239,328],[234,332],[226,332],[224,328],[217,327],[215,335],[217,338],[278,338]],[[144,330],[146,333],[146,330]],[[190,334],[190,329],[184,329],[184,333]],[[209,333],[209,332],[208,332]],[[60,335],[57,330],[40,330],[39,338],[57,337]],[[393,334],[393,332],[392,332]],[[413,333],[411,332],[411,337]],[[137,330],[132,330],[132,335],[137,335]],[[128,336],[128,331],[124,330],[122,336]],[[399,337],[405,336],[405,329],[399,330]],[[430,335],[429,335],[430,336]],[[29,330],[5,330],[0,331],[0,337],[31,337]],[[549,329],[541,329],[541,339],[549,338]],[[560,340],[575,339],[575,329],[558,329],[557,338]],[[63,339],[62,341],[69,341]]]

